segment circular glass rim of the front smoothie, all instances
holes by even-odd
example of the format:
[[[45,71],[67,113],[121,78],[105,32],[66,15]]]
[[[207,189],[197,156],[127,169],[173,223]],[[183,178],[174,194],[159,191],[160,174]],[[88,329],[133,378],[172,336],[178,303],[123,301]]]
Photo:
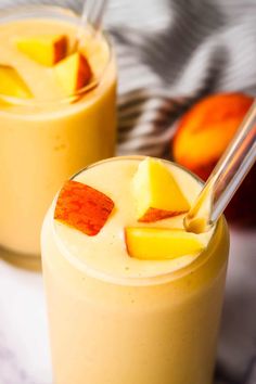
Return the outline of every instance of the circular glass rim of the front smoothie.
[[[102,163],[118,162],[118,161],[124,161],[124,159],[142,161],[145,157],[148,157],[148,156],[143,156],[143,155],[130,155],[129,156],[128,155],[128,156],[110,157],[110,158],[93,163],[93,164],[82,168],[80,171],[73,175],[69,178],[69,180],[74,180],[74,178],[76,178],[81,172],[86,171],[87,169],[91,169],[93,167],[97,167],[97,166],[101,165]],[[154,157],[152,157],[152,158],[154,158]],[[188,170],[183,166],[181,166],[177,163],[174,163],[171,161],[168,161],[168,159],[162,159],[162,161],[167,164],[172,164],[177,168],[184,170],[187,174],[192,176],[193,179],[195,179],[201,185],[203,184],[203,181],[196,175],[194,175],[193,172],[191,172],[190,170]],[[59,196],[59,193],[60,193],[60,191],[57,192],[57,194],[53,201],[53,204],[51,206],[51,209],[50,209],[51,214],[52,214],[52,208],[55,207],[55,202]],[[54,210],[53,210],[53,215],[54,215]],[[192,260],[188,265],[185,265],[177,270],[169,271],[169,272],[167,271],[166,273],[164,272],[164,273],[158,273],[158,274],[150,276],[150,277],[119,277],[118,278],[118,277],[112,276],[111,273],[102,272],[93,267],[90,267],[88,265],[88,263],[79,260],[74,254],[72,254],[72,252],[69,252],[69,249],[67,249],[65,247],[61,236],[56,232],[56,226],[55,226],[55,220],[54,220],[53,215],[50,216],[51,231],[53,233],[54,243],[55,243],[56,247],[59,248],[62,257],[64,257],[74,268],[78,269],[80,272],[87,273],[87,276],[89,276],[89,278],[93,278],[93,279],[100,280],[102,282],[107,282],[107,283],[112,283],[112,284],[116,284],[116,285],[117,284],[118,285],[126,285],[126,286],[127,285],[129,285],[129,286],[148,286],[148,285],[164,284],[164,283],[167,283],[170,281],[181,279],[185,274],[190,273],[190,271],[194,271],[195,269],[200,268],[204,263],[207,261],[207,259],[213,257],[213,254],[215,253],[214,252],[215,239],[216,239],[218,232],[221,231],[221,229],[222,229],[222,231],[225,231],[225,225],[226,225],[225,216],[222,215],[220,217],[220,219],[217,221],[217,223],[214,226],[214,230],[213,230],[213,233],[212,233],[212,236],[208,241],[207,246],[195,257],[194,260]]]

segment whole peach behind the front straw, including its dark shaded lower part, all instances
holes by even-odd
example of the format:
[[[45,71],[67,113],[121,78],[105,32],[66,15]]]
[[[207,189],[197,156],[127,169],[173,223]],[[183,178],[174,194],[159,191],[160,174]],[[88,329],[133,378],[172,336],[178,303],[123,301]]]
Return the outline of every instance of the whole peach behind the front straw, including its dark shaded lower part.
[[[253,100],[243,93],[219,93],[192,106],[179,121],[172,141],[175,161],[206,180]],[[256,166],[244,179],[226,210],[232,222],[256,225],[255,188]]]

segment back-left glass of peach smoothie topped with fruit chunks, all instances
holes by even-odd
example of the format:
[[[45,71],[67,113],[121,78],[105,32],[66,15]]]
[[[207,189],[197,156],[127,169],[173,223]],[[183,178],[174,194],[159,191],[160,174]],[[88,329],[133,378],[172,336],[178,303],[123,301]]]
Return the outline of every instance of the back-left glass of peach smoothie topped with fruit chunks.
[[[63,181],[114,155],[115,57],[90,26],[72,52],[78,21],[49,7],[0,13],[0,246],[18,254],[40,254]]]

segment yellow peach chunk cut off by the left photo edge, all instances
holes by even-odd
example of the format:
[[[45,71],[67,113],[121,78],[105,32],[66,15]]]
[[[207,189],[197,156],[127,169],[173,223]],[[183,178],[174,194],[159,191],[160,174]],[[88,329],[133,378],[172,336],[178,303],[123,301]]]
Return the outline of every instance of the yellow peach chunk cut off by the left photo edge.
[[[16,69],[9,65],[0,65],[0,94],[18,99],[33,98]]]

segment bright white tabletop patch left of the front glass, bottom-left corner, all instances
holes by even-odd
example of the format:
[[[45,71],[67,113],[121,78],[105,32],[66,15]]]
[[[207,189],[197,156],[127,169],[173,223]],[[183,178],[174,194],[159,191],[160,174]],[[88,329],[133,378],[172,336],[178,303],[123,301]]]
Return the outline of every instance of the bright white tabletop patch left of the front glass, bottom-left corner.
[[[40,273],[0,261],[0,383],[51,384]]]

